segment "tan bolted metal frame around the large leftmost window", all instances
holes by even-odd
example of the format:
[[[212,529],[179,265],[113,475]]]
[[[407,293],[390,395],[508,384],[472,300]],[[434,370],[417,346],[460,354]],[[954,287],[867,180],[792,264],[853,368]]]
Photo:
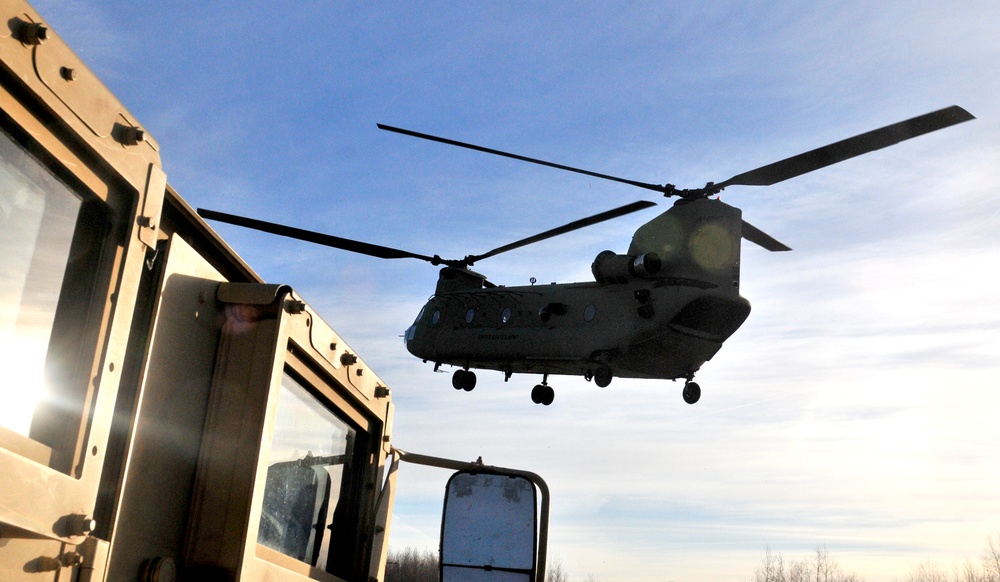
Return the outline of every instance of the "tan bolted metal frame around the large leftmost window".
[[[21,16],[29,14],[28,10]],[[111,224],[90,299],[75,306],[84,322],[79,341],[65,346],[76,352],[66,382],[79,406],[78,414],[49,431],[47,442],[5,433],[0,443],[0,490],[6,501],[0,522],[79,544],[86,539],[83,530],[96,504],[147,249],[138,237],[142,230],[139,216],[159,208],[166,178],[151,144],[126,155],[113,136],[88,131],[45,86],[40,76],[47,71],[36,70],[34,57],[60,46],[65,45],[54,42],[45,49],[26,48],[12,37],[0,38],[0,125],[71,190],[105,206]],[[89,73],[73,59],[67,57],[64,62]],[[128,113],[110,94],[104,103],[114,110],[110,115],[127,119]],[[51,347],[50,342],[50,352]],[[51,501],[39,504],[38,499]]]

